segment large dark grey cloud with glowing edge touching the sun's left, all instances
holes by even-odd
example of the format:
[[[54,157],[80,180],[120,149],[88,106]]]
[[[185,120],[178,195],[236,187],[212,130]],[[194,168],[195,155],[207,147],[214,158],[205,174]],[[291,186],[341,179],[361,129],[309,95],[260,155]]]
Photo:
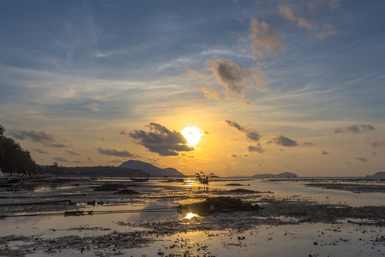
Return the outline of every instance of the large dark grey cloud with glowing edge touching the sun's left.
[[[130,137],[153,153],[160,156],[178,156],[180,151],[193,151],[193,146],[188,146],[186,138],[176,131],[170,131],[160,124],[148,124],[150,131],[135,130]]]

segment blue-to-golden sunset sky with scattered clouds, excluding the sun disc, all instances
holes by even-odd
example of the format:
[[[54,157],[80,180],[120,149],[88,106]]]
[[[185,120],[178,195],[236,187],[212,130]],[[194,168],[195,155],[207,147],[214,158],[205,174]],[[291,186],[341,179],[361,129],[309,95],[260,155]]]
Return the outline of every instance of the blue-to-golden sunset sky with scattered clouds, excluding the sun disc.
[[[385,1],[0,1],[0,124],[36,163],[385,171]],[[200,129],[192,146],[180,133]]]

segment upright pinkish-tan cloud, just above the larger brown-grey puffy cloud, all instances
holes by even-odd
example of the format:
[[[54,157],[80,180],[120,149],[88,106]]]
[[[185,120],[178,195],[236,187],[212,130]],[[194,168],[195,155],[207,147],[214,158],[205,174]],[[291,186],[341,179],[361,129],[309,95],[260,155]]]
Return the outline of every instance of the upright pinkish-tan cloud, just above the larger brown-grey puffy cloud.
[[[250,47],[256,56],[262,56],[262,52],[265,49],[272,54],[276,54],[283,49],[282,42],[284,37],[272,31],[269,24],[265,21],[260,22],[252,18],[250,21],[250,30],[251,34],[249,35],[249,39],[252,41]]]

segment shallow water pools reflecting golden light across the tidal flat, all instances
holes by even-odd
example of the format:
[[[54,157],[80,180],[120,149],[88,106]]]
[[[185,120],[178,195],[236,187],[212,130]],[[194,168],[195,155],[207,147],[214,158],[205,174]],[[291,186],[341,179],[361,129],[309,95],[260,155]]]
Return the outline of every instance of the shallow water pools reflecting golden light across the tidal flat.
[[[111,181],[111,180],[109,180]],[[119,180],[117,180],[119,181]],[[103,182],[103,181],[102,181]],[[101,183],[101,182],[100,182]],[[227,183],[241,183],[244,186],[225,186]],[[53,239],[61,236],[103,236],[113,232],[148,231],[143,223],[163,221],[183,221],[186,226],[189,220],[187,213],[177,213],[170,208],[178,204],[202,201],[207,196],[227,196],[225,190],[245,188],[263,191],[261,194],[232,194],[232,197],[243,201],[257,202],[260,198],[289,199],[290,201],[317,201],[319,203],[346,204],[349,206],[384,206],[384,193],[352,193],[304,186],[304,181],[212,181],[202,185],[196,181],[188,183],[148,181],[131,189],[142,194],[135,196],[114,196],[111,203],[103,206],[86,205],[85,201],[92,197],[102,197],[105,192],[91,191],[94,185],[41,187],[41,190],[29,192],[3,192],[7,196],[39,197],[43,193],[86,192],[86,200],[77,198],[78,210],[113,211],[114,213],[94,214],[86,216],[29,216],[11,217],[0,220],[0,237],[34,236],[42,239]],[[362,182],[367,183],[367,182]],[[273,193],[267,193],[267,191]],[[8,199],[5,199],[8,200]],[[10,200],[11,201],[11,200]],[[26,201],[17,198],[17,201]],[[28,199],[27,199],[28,201]],[[1,208],[1,206],[0,206]],[[41,209],[44,211],[44,209]],[[135,212],[142,210],[141,212]],[[36,209],[39,212],[39,208]],[[127,212],[121,212],[127,211]],[[133,211],[129,213],[128,211]],[[4,209],[0,211],[4,212]],[[24,213],[23,208],[19,213]],[[231,216],[227,213],[223,216]],[[247,215],[236,216],[247,221]],[[384,217],[385,218],[385,217]],[[193,218],[194,219],[194,218]],[[199,221],[221,222],[220,216],[199,217]],[[364,231],[364,232],[363,232]],[[158,256],[174,254],[176,256],[384,256],[384,241],[374,242],[374,238],[384,235],[384,227],[359,226],[342,221],[339,224],[301,223],[298,225],[258,225],[237,232],[229,226],[221,230],[188,231],[153,236],[155,241],[142,248],[127,249],[61,249],[51,253],[37,249],[25,256],[111,256],[124,253],[128,256]],[[243,238],[245,237],[245,238]],[[13,241],[9,248],[29,248],[31,242]],[[1,244],[0,244],[1,246]],[[48,247],[48,246],[47,246]],[[120,252],[118,252],[120,251]],[[7,256],[0,249],[0,256]],[[102,254],[103,253],[103,254]]]

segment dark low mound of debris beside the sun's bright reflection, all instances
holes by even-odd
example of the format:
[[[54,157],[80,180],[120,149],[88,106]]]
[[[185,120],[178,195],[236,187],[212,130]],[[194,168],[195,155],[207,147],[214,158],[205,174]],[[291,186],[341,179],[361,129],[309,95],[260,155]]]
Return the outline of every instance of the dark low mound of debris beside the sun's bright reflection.
[[[251,203],[244,203],[238,198],[225,196],[207,198],[206,201],[200,203],[180,205],[177,207],[179,212],[188,211],[200,215],[229,211],[257,211],[259,209],[260,206],[257,206],[257,204],[252,205]]]

